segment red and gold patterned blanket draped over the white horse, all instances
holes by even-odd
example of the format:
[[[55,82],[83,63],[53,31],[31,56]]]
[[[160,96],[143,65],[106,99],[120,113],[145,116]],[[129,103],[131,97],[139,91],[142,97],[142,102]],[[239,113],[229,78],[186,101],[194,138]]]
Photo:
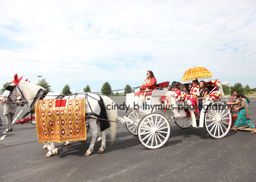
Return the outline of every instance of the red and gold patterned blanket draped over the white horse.
[[[86,139],[85,98],[37,100],[35,113],[38,142]]]

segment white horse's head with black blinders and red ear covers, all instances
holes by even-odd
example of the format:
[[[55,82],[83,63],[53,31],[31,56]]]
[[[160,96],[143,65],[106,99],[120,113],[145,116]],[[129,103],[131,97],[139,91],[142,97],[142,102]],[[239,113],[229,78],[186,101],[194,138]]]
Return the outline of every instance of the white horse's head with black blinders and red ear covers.
[[[8,84],[6,87],[4,93],[0,97],[0,103],[8,103],[13,102],[16,98],[20,97],[22,95],[22,92],[18,86],[20,80],[23,76],[18,78],[18,75],[14,75],[14,80]]]

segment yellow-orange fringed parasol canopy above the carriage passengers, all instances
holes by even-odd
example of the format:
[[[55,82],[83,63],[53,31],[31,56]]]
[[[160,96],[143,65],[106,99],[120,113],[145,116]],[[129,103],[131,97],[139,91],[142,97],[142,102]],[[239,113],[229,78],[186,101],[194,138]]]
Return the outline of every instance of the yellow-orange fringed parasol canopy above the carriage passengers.
[[[211,78],[212,74],[204,67],[193,67],[185,71],[181,82],[194,80],[196,78]]]

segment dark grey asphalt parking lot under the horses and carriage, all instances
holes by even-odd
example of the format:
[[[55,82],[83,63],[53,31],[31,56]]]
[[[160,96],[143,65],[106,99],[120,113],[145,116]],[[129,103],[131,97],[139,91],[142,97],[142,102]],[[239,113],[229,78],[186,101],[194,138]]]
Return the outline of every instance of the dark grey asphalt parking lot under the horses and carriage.
[[[124,97],[114,97],[120,105]],[[251,100],[251,118],[256,125],[256,98]],[[19,107],[15,116],[22,116],[28,107]],[[129,112],[129,111],[128,111]],[[229,131],[221,139],[211,138],[203,128],[186,129],[171,122],[171,135],[159,149],[147,149],[125,125],[117,124],[116,140],[102,154],[95,143],[90,156],[84,156],[91,142],[89,132],[84,143],[70,146],[56,143],[59,156],[44,157],[47,149],[38,142],[36,127],[13,125],[4,133],[6,120],[0,106],[0,181],[256,181],[254,166],[256,134]],[[123,117],[128,113],[118,111]]]

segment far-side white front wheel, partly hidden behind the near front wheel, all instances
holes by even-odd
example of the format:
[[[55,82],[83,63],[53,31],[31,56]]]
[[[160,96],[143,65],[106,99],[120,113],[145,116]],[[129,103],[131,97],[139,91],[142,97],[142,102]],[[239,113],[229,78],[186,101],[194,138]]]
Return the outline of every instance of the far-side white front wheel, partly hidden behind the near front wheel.
[[[146,115],[145,113],[142,113],[139,110],[134,110],[134,111],[132,111],[131,113],[128,114],[127,118],[136,122],[136,123],[131,123],[131,122],[127,121],[125,123],[125,126],[126,126],[127,130],[132,135],[137,135],[138,124],[145,115]]]

